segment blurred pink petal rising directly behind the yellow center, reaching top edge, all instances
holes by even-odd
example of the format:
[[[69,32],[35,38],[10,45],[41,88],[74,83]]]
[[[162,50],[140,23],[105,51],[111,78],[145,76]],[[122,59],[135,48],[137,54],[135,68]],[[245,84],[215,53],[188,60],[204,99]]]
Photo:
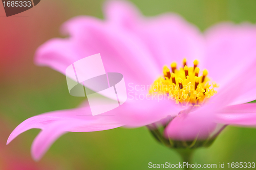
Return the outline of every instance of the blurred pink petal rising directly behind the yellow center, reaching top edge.
[[[176,14],[144,18],[135,6],[127,2],[106,4],[105,16],[113,24],[139,37],[154,55],[160,67],[176,61],[193,65],[204,56],[204,39],[199,29]]]

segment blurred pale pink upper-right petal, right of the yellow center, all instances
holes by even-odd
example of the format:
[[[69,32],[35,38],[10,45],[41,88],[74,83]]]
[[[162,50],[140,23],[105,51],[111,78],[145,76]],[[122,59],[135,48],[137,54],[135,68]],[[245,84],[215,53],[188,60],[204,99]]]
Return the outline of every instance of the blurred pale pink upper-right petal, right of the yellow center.
[[[205,67],[212,80],[222,84],[246,69],[256,55],[256,27],[249,23],[223,23],[206,31]]]

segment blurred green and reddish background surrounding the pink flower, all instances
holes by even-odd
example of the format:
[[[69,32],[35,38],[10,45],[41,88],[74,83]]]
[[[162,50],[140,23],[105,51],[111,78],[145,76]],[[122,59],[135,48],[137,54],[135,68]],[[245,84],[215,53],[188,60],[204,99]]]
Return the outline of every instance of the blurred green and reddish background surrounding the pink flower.
[[[255,0],[133,0],[146,16],[175,12],[205,31],[215,23],[256,21]],[[99,0],[41,0],[35,7],[6,17],[0,5],[0,169],[148,169],[148,162],[181,162],[158,144],[146,128],[61,136],[39,161],[30,147],[40,130],[7,138],[23,120],[48,111],[69,109],[82,98],[69,95],[66,78],[33,63],[36,48],[61,37],[61,23],[77,15],[103,19]],[[242,56],[241,56],[242,57]],[[256,129],[227,127],[208,149],[198,149],[193,162],[256,162]]]

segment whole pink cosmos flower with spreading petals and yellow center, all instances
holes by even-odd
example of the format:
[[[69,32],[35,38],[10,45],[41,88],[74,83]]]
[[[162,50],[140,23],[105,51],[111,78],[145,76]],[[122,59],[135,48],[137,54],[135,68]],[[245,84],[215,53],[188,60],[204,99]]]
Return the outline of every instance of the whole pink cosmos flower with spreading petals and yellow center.
[[[41,45],[36,52],[35,62],[65,74],[66,68],[73,62],[100,53],[106,72],[123,74],[128,100],[99,116],[84,116],[91,115],[86,104],[77,109],[31,117],[11,133],[7,144],[31,128],[42,129],[32,144],[33,158],[40,159],[63,133],[150,124],[148,127],[152,128],[163,120],[166,122],[167,116],[171,122],[165,128],[164,135],[173,140],[209,138],[216,134],[220,124],[256,125],[256,104],[247,103],[256,99],[255,26],[249,23],[240,26],[224,23],[202,34],[178,15],[145,18],[133,5],[118,1],[108,2],[104,6],[104,16],[105,20],[89,16],[69,20],[61,28],[62,33],[69,37],[55,38]],[[194,84],[199,82],[200,85],[196,84],[195,88],[198,90],[200,87],[201,91],[194,89],[195,94],[184,91],[181,94],[185,96],[184,100],[179,96],[175,98],[176,101],[160,100],[159,96],[151,100],[136,100],[136,96],[140,99],[140,96],[142,98],[148,94],[147,90],[142,89],[143,85],[152,85],[158,80],[165,64],[173,61],[182,63],[184,57],[187,66],[193,66],[193,61],[197,59],[198,67],[208,70],[210,79],[219,85],[219,88],[215,88],[217,93],[205,87],[202,76],[195,77],[196,67],[189,67],[189,77],[181,76],[183,78],[180,79],[175,72],[184,72],[185,67],[183,69],[180,65],[175,66],[174,71],[178,91],[183,92],[186,81],[190,79]],[[197,61],[194,64],[197,65]],[[205,73],[205,81],[209,81],[208,75]],[[170,81],[167,77],[166,81]],[[163,77],[159,80],[164,81]],[[174,83],[173,80],[170,82]],[[155,91],[157,94],[160,92]],[[170,94],[173,96],[174,92],[169,91],[164,97],[169,99]],[[198,96],[192,99],[192,95]]]

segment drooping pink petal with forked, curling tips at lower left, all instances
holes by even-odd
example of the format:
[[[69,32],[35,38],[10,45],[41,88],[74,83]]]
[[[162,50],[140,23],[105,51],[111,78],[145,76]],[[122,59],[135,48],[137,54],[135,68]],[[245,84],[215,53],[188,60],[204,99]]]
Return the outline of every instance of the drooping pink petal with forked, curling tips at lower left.
[[[92,132],[108,130],[123,126],[116,122],[114,116],[92,116],[90,108],[54,111],[28,118],[18,125],[10,134],[7,144],[16,136],[29,129],[37,128],[42,131],[37,135],[32,145],[32,156],[40,159],[52,143],[66,132]]]

